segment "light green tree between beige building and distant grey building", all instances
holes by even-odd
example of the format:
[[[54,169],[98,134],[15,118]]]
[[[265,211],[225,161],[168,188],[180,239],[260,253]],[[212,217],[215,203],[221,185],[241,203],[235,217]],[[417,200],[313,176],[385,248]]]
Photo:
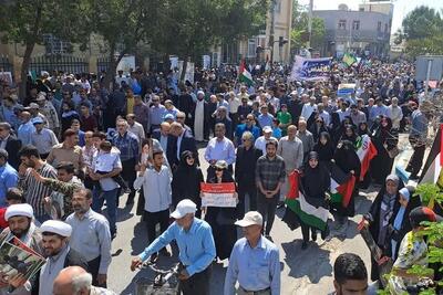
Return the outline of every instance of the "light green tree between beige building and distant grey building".
[[[292,29],[291,29],[291,51],[296,51],[306,45],[309,41],[309,13],[306,7],[293,1],[292,8]],[[326,34],[324,21],[321,18],[312,18],[312,33],[310,46],[320,48]]]

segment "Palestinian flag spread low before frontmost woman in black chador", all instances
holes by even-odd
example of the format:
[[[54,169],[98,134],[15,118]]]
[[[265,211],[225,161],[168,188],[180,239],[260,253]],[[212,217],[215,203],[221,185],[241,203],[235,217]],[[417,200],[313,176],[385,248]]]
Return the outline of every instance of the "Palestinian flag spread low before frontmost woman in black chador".
[[[316,208],[306,201],[303,193],[299,191],[299,178],[300,175],[296,171],[288,177],[289,191],[285,200],[287,210],[295,212],[300,222],[324,231],[329,211],[322,207]]]

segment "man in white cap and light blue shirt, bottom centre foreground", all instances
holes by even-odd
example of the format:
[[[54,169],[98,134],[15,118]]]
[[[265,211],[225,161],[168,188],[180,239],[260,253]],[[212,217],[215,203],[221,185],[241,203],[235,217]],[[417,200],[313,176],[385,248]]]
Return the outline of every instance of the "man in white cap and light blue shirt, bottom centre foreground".
[[[237,241],[230,253],[224,294],[280,294],[279,251],[261,235],[261,214],[249,211],[235,224],[241,226],[245,238]],[[238,293],[235,289],[237,281]]]

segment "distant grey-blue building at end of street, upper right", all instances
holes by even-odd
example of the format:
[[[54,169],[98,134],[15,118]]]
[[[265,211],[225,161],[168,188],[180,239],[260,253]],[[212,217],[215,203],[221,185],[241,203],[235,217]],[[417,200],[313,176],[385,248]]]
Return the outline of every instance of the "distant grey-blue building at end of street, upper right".
[[[323,56],[342,56],[346,52],[384,57],[389,54],[393,4],[361,4],[358,11],[340,6],[338,10],[317,10],[324,21]]]

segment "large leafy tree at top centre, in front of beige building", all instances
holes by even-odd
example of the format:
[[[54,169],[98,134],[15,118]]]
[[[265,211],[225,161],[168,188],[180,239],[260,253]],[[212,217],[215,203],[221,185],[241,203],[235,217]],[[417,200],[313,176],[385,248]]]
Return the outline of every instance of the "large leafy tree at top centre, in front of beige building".
[[[154,34],[152,46],[184,60],[198,60],[210,46],[222,41],[235,42],[241,36],[257,34],[265,23],[268,0],[165,0],[159,13],[161,30]]]

